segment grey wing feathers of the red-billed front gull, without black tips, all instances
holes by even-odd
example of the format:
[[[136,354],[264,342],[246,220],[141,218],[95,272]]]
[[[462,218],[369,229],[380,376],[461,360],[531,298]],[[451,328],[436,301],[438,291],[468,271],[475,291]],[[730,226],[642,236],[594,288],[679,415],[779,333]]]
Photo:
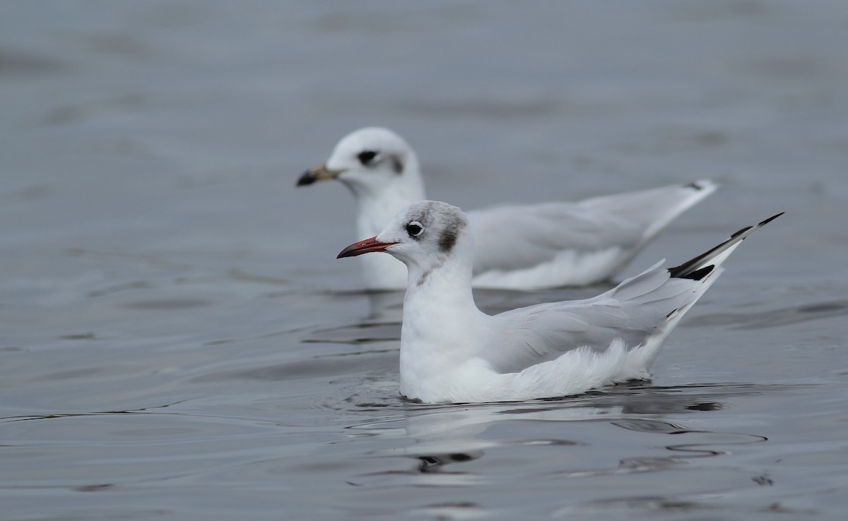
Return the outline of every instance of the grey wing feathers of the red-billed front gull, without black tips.
[[[692,300],[695,284],[672,279],[657,264],[599,297],[500,313],[481,357],[500,373],[514,373],[581,346],[605,351],[615,338],[628,347],[639,346],[661,332],[669,314]]]

